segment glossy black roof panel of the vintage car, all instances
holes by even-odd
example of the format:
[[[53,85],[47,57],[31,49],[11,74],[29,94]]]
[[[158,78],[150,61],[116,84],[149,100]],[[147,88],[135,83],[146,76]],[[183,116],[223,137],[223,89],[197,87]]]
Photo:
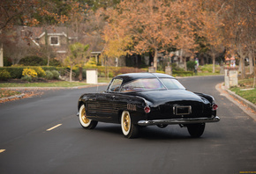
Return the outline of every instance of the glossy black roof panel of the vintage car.
[[[132,80],[136,80],[139,78],[174,78],[173,76],[169,76],[166,74],[161,74],[161,73],[128,73],[128,74],[123,74],[116,76],[115,78],[122,78],[123,83],[130,82]]]

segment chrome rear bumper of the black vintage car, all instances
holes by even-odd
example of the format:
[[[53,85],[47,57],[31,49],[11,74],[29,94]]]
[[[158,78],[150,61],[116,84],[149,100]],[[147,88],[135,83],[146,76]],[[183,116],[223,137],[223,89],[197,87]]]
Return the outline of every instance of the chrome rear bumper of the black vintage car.
[[[176,124],[194,124],[194,123],[209,123],[218,122],[221,120],[218,116],[212,118],[187,118],[187,119],[169,119],[169,120],[139,120],[139,126],[150,125],[176,125]]]

